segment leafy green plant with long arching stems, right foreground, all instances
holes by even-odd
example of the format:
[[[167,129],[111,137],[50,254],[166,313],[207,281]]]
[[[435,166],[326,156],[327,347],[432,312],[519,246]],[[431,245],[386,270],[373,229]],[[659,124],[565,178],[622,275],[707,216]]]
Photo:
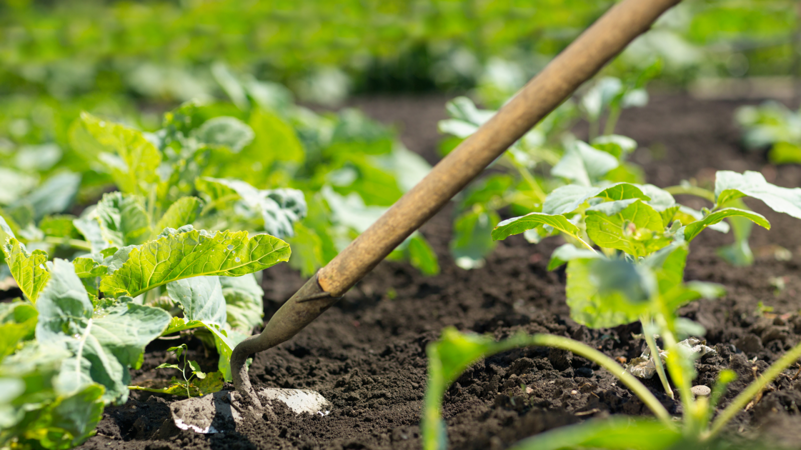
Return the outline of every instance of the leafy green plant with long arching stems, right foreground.
[[[589,168],[591,171],[594,167]],[[576,171],[580,172],[581,167]],[[792,348],[763,372],[712,420],[714,408],[734,374],[721,372],[709,399],[694,397],[690,392],[697,375],[693,361],[708,349],[692,336],[703,335],[705,331],[698,323],[679,317],[677,311],[694,299],[723,295],[723,289],[714,283],[684,281],[688,243],[706,227],[714,227],[727,217],[743,217],[769,228],[770,223],[762,215],[729,206],[746,196],[762,200],[775,211],[801,218],[801,188],[776,187],[757,172],[718,171],[714,193],[709,194],[714,195],[714,207],[697,215],[676,203],[666,191],[651,185],[570,184],[552,191],[542,211],[499,223],[493,230],[493,239],[505,239],[528,230],[537,230],[542,236],[562,234],[569,243],[553,251],[549,269],[567,264],[566,296],[571,318],[592,328],[615,327],[639,320],[648,352],[624,370],[594,349],[562,336],[517,335],[496,343],[491,338],[446,330],[441,340],[430,344],[428,350],[426,448],[444,448],[439,408],[445,388],[478,358],[521,345],[562,348],[594,361],[622,380],[662,422],[655,425],[647,420],[635,420],[622,426],[619,420],[591,421],[575,425],[570,432],[552,432],[544,436],[545,444],[537,444],[535,439],[521,444],[521,448],[613,442],[602,439],[603,430],[619,436],[619,440],[614,441],[618,444],[610,444],[609,448],[668,448],[679,439],[703,442],[717,436],[740,408],[801,356],[801,345]],[[657,345],[657,335],[662,339],[663,348]],[[682,403],[681,424],[674,423],[662,404],[632,375],[645,376],[646,366],[652,369],[651,375],[658,374],[666,394],[673,397],[673,388],[666,377],[666,373],[670,374]],[[643,441],[642,436],[654,427],[666,433],[666,439],[659,444]]]

